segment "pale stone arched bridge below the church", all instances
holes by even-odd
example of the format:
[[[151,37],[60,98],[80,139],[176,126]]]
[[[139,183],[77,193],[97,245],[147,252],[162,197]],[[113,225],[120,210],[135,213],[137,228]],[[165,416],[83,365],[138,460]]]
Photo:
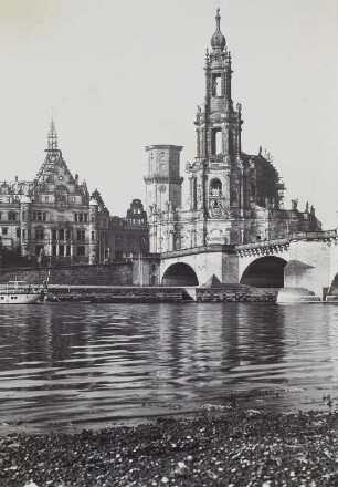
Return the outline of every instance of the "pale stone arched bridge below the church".
[[[337,273],[338,237],[336,230],[329,230],[161,253],[159,281],[163,286],[204,286],[215,276],[222,283],[302,287],[321,296]]]

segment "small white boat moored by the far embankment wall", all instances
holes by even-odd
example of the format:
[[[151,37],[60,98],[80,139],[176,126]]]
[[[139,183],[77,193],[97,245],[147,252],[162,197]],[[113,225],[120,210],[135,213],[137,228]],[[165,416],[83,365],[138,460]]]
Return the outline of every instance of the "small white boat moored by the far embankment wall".
[[[0,289],[0,304],[33,304],[43,301],[46,292],[46,283],[39,287],[25,281],[8,281]]]

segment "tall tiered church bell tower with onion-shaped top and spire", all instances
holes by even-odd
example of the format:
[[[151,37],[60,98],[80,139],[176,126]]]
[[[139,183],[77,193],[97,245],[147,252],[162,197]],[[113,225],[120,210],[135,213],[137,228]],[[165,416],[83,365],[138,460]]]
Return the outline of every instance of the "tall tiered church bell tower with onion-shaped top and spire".
[[[233,107],[231,97],[231,54],[220,27],[211,38],[211,52],[205,55],[205,100],[196,117],[197,158],[188,168],[190,209],[203,210],[208,218],[210,208],[241,209],[245,198],[241,191],[243,180],[241,162],[241,105]]]

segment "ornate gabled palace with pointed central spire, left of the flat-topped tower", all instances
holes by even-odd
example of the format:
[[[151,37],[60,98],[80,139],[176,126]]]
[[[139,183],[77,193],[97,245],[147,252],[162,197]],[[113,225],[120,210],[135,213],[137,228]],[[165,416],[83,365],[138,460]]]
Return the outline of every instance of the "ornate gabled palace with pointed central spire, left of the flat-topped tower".
[[[112,217],[70,172],[52,121],[36,177],[0,183],[0,245],[11,262],[104,263],[148,251],[147,216],[136,199],[126,218]]]

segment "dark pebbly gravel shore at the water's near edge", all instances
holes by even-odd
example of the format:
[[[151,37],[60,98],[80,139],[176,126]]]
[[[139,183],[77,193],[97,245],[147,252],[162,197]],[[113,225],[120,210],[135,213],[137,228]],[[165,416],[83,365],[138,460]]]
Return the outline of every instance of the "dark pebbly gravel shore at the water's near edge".
[[[193,419],[0,438],[0,486],[338,486],[338,413],[209,407]]]

